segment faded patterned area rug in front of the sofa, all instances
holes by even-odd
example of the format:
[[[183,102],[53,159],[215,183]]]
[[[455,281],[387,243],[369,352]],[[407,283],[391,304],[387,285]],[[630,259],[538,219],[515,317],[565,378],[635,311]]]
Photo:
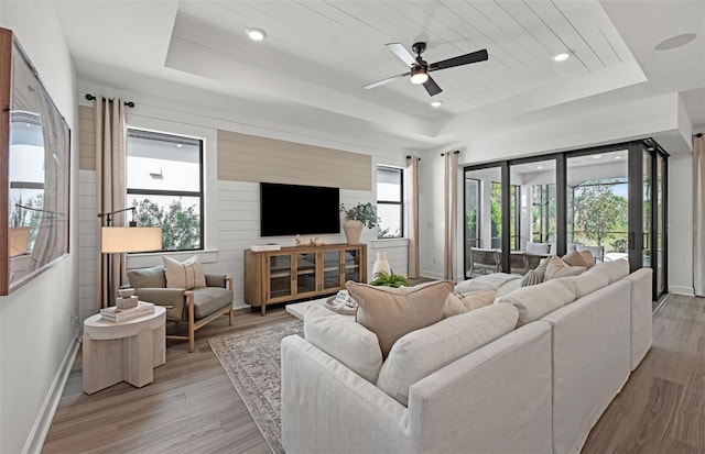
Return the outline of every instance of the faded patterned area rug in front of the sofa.
[[[286,320],[209,341],[210,348],[274,454],[284,452],[280,342],[291,334],[303,336],[301,320]]]

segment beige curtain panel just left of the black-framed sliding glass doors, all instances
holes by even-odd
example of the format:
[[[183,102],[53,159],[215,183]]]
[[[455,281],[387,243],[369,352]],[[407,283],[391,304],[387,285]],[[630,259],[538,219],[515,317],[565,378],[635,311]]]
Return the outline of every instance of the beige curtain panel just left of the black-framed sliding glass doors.
[[[443,262],[444,279],[457,280],[457,180],[458,154],[449,152],[445,158],[445,255]]]

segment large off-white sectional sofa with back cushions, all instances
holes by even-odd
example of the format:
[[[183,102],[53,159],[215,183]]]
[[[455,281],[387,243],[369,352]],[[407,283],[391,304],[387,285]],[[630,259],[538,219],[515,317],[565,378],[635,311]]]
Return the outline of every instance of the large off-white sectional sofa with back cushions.
[[[651,346],[651,270],[518,288],[387,355],[321,311],[281,345],[286,453],[578,453]]]

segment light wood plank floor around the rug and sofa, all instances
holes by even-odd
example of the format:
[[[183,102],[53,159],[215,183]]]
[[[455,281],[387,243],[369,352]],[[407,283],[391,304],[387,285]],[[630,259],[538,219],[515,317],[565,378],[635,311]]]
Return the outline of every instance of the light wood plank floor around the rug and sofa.
[[[236,314],[196,333],[196,351],[167,341],[154,383],[83,394],[76,358],[43,453],[269,453],[208,339],[278,323],[283,308]],[[705,454],[705,299],[672,296],[653,346],[593,429],[583,453]]]

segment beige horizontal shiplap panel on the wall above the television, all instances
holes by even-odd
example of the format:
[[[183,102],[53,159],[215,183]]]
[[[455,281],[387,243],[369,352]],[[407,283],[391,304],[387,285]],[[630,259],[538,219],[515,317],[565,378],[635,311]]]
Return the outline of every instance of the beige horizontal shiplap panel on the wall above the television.
[[[370,190],[371,156],[218,131],[218,179]]]

